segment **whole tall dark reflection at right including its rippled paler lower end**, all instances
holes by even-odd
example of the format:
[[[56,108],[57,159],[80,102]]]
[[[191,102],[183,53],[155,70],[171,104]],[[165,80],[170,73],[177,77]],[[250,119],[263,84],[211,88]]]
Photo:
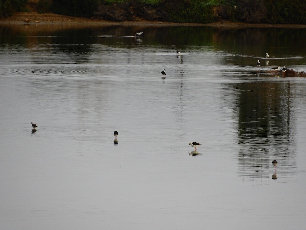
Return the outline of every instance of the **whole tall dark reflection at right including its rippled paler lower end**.
[[[241,175],[269,180],[265,172],[272,158],[296,167],[290,82],[242,83],[235,88]]]

